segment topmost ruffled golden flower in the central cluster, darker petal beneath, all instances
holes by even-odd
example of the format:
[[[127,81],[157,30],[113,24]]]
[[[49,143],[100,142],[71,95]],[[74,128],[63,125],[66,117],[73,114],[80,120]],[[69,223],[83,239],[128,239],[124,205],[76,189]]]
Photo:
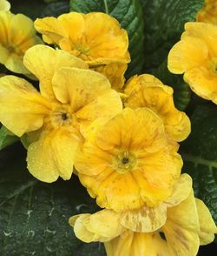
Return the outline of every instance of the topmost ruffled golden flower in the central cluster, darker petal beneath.
[[[57,18],[37,18],[35,27],[44,42],[82,58],[108,77],[112,87],[122,87],[130,61],[128,34],[114,17],[101,12],[70,12]]]

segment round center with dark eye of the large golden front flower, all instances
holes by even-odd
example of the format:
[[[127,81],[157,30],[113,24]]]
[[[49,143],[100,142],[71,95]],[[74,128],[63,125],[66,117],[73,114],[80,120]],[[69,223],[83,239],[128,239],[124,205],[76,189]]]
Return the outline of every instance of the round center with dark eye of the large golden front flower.
[[[128,151],[118,152],[113,160],[113,167],[116,172],[126,173],[131,172],[136,165],[135,154]]]

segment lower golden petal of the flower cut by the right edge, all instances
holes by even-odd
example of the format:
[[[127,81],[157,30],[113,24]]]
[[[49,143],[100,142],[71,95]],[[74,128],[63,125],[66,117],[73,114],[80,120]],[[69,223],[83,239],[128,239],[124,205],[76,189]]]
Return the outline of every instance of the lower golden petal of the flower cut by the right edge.
[[[187,71],[184,80],[190,85],[192,91],[201,98],[211,99],[217,103],[217,77],[208,67],[195,67]]]

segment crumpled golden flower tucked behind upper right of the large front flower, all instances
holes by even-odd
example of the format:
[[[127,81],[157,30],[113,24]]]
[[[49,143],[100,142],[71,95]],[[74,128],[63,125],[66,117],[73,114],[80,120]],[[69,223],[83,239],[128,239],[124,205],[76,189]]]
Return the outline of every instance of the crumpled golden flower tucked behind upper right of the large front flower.
[[[176,141],[187,138],[190,133],[190,120],[184,112],[174,106],[173,88],[164,85],[152,75],[131,77],[124,93],[128,96],[124,105],[133,109],[148,107],[161,117],[166,131]]]

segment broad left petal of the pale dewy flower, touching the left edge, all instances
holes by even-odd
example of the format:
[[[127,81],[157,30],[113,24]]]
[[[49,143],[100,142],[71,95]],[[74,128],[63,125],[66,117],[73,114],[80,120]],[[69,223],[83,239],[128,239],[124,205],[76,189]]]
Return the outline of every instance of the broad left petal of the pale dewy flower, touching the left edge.
[[[49,113],[48,102],[26,80],[14,76],[0,78],[0,120],[21,137],[43,126]]]

